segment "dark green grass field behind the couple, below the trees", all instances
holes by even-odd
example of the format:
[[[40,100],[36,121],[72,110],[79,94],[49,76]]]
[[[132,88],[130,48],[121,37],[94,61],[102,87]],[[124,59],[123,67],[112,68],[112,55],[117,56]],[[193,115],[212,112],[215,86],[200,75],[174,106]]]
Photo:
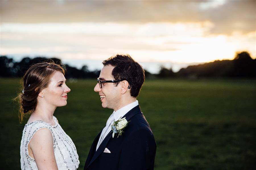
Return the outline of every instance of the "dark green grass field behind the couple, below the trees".
[[[1,169],[20,169],[19,81],[0,78]],[[68,104],[54,114],[77,147],[79,169],[112,113],[95,83],[68,81]],[[255,169],[256,80],[146,80],[137,99],[156,139],[156,170]]]

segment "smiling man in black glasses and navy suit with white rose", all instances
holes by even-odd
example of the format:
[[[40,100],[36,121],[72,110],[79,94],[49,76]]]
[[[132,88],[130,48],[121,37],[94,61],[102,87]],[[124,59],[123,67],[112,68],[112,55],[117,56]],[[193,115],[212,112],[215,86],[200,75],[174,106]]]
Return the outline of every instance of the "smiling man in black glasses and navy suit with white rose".
[[[94,139],[84,170],[154,169],[156,142],[136,100],[145,79],[144,70],[129,55],[112,56],[102,64],[94,91],[99,93],[102,107],[114,111]],[[120,118],[128,124],[118,136],[112,125]]]

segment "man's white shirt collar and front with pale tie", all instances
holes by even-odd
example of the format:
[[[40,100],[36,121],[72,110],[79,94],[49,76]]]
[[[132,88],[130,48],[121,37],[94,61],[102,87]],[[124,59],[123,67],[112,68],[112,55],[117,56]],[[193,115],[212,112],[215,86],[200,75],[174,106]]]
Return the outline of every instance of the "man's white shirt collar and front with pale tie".
[[[123,117],[125,114],[127,114],[127,112],[129,112],[131,109],[133,109],[135,106],[138,106],[138,105],[139,105],[139,102],[138,102],[138,100],[136,100],[135,102],[132,102],[132,103],[122,107],[121,109],[117,110],[116,112],[113,111],[113,113],[108,118],[106,126],[104,127],[104,129],[102,130],[102,132],[100,134],[100,138],[99,138],[98,144],[96,146],[96,151],[99,148],[102,141],[105,139],[105,137],[110,133],[110,131],[111,131],[110,125],[112,125],[114,123],[114,121],[117,121],[118,119]]]

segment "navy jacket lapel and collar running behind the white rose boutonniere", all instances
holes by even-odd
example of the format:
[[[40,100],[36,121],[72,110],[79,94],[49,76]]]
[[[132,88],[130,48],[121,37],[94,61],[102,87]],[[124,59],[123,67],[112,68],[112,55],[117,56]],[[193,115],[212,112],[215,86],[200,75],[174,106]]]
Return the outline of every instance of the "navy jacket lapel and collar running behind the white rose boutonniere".
[[[140,106],[138,105],[138,106],[135,106],[134,108],[132,108],[129,112],[127,112],[123,117],[125,117],[125,119],[127,120],[127,121],[129,121],[129,119],[131,119],[131,117],[133,117],[134,115],[136,115],[136,114],[139,114],[139,113],[141,113],[141,108],[140,108]],[[123,118],[122,117],[122,118]],[[99,133],[99,135],[101,134],[101,132]],[[99,146],[99,148],[98,148],[98,150],[95,152],[95,154],[94,154],[94,156],[92,157],[92,159],[91,159],[91,161],[90,161],[90,163],[89,163],[89,165],[88,166],[90,166],[90,164],[92,164],[92,162],[96,159],[96,158],[98,158],[98,156],[104,151],[104,149],[106,148],[106,145],[108,144],[108,141],[110,140],[110,138],[112,137],[112,135],[111,135],[112,133],[111,133],[111,131],[108,133],[108,135],[106,136],[106,138],[102,141],[102,143],[100,144],[100,146]],[[98,135],[98,136],[99,136]],[[99,138],[97,136],[97,138]],[[96,139],[94,140],[94,144],[96,144],[96,146],[97,146],[97,142],[98,142],[98,140],[96,141]],[[94,147],[93,149],[96,149],[96,147]],[[87,167],[88,167],[87,166]]]

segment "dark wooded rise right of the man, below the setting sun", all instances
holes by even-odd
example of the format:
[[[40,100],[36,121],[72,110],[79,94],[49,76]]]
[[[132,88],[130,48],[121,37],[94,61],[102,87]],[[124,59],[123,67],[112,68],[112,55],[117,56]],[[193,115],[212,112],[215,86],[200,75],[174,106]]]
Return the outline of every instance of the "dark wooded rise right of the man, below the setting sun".
[[[252,59],[246,51],[237,53],[233,60],[215,60],[204,64],[181,68],[177,73],[172,68],[162,67],[158,77],[240,77],[256,78],[256,59]]]

